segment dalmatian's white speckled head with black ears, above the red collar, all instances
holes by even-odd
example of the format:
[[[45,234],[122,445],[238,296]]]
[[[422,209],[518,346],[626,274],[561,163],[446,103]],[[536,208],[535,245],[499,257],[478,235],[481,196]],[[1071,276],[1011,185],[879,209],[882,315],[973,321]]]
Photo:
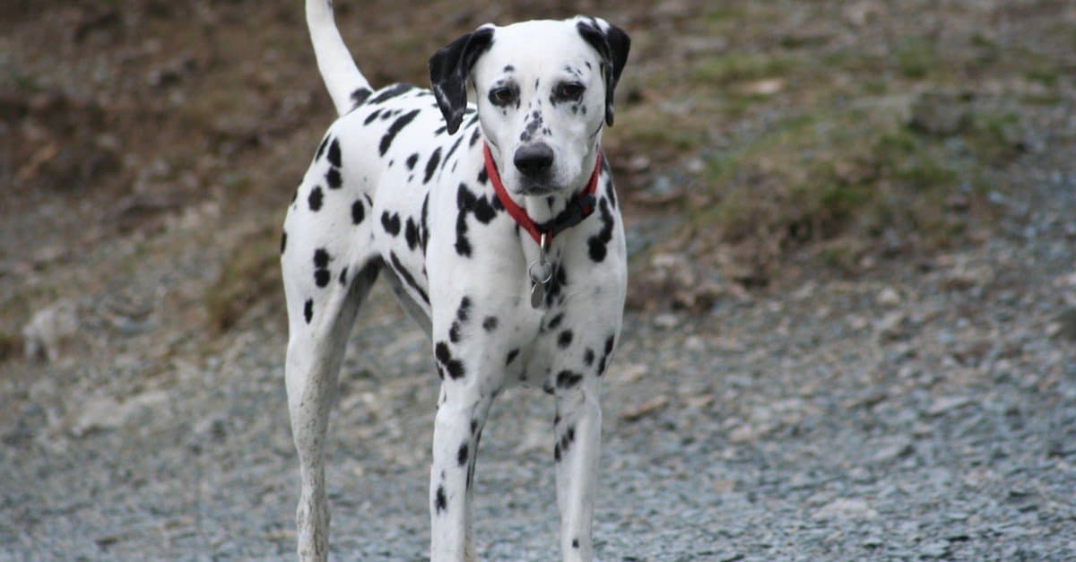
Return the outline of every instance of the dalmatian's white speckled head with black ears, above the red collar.
[[[510,192],[554,194],[590,177],[629,45],[623,30],[593,17],[487,24],[439,50],[429,78],[449,132],[468,97],[478,106]]]

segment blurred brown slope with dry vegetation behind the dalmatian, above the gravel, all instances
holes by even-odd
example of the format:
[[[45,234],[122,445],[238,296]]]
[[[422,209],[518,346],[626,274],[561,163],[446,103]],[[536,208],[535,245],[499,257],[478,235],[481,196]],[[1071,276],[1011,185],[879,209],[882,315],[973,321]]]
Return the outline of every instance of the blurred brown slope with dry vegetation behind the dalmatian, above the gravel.
[[[337,3],[377,84],[424,83],[428,54],[486,20],[627,29],[606,145],[648,308],[771,284],[790,262],[854,275],[981,240],[1029,115],[1071,100],[1076,70],[1064,2]],[[17,1],[0,38],[0,276],[37,283],[4,283],[2,332],[114,240],[213,245],[200,318],[216,328],[280,300],[282,209],[331,118],[301,2]],[[170,238],[182,221],[199,235]]]

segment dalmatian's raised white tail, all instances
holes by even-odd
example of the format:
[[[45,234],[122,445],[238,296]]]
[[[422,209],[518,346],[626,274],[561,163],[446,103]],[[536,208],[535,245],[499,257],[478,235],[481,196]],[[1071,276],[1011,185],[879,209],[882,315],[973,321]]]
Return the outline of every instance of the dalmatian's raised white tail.
[[[366,99],[371,88],[343,44],[332,18],[332,0],[307,0],[307,27],[314,43],[317,70],[325,80],[337,114],[343,115],[356,102]]]

